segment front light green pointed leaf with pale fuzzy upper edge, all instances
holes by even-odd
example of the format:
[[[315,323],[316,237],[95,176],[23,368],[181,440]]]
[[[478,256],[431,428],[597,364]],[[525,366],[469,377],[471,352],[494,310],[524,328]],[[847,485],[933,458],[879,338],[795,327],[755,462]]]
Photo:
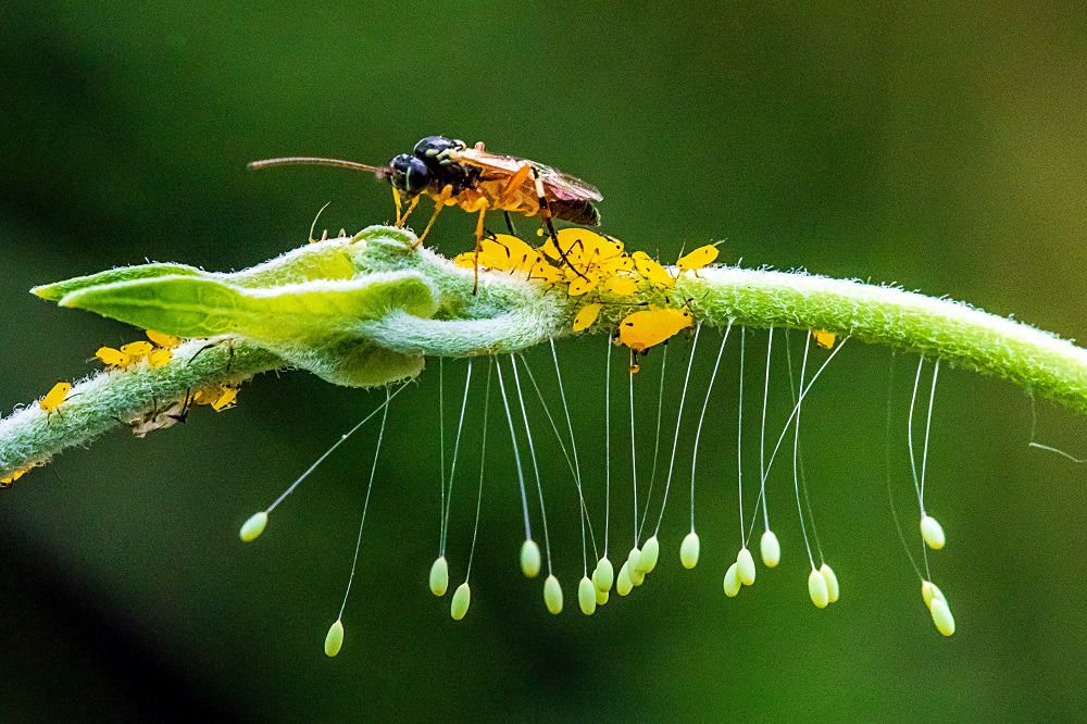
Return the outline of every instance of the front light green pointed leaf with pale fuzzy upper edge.
[[[415,272],[254,289],[212,275],[170,275],[79,289],[60,305],[178,337],[237,334],[258,342],[351,335],[360,321],[390,309],[425,317],[437,309],[430,285]]]

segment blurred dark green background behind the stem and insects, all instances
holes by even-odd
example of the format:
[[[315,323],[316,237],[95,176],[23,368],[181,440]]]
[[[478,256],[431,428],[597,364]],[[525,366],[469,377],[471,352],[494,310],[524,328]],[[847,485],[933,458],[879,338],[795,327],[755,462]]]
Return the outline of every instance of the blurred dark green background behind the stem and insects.
[[[36,300],[30,286],[145,259],[241,269],[303,242],[327,201],[323,226],[386,222],[388,189],[372,178],[245,164],[380,163],[438,133],[598,185],[605,230],[666,259],[725,239],[729,262],[897,282],[1087,333],[1080,3],[16,1],[0,17],[3,410],[86,374],[98,346],[137,336]],[[471,224],[448,213],[432,239],[463,250]],[[716,338],[703,339],[696,404]],[[764,334],[748,344],[754,421]],[[602,337],[559,346],[597,513],[603,350]],[[676,554],[683,462],[658,571],[591,619],[576,611],[576,507],[544,427],[566,611],[549,615],[541,582],[517,571],[520,500],[499,426],[472,610],[454,623],[448,599],[427,591],[438,536],[432,363],[390,415],[336,660],[321,642],[350,566],[374,429],[289,499],[259,544],[241,546],[236,530],[380,392],[265,376],[228,413],[60,457],[0,495],[4,719],[1082,717],[1087,563],[1075,551],[1087,546],[1087,471],[1027,448],[1029,399],[969,371],[941,374],[927,503],[949,537],[934,557],[959,624],[945,639],[887,508],[890,354],[863,345],[844,350],[804,411],[813,505],[842,600],[822,612],[808,600],[787,459],[771,492],[783,563],[724,598],[736,550],[736,351],[703,433],[699,567],[683,571]],[[547,376],[545,354],[529,361]],[[899,358],[895,396],[909,532],[914,364]],[[650,358],[639,397],[654,395],[658,365]],[[446,365],[450,423],[463,369]],[[674,400],[678,379],[669,390]],[[1047,403],[1038,413],[1040,438],[1087,452],[1083,420]],[[622,405],[615,414],[625,420]],[[454,496],[453,585],[471,535],[475,427]],[[620,424],[613,454],[625,486],[624,434]],[[749,436],[748,480],[755,444]],[[619,485],[613,559],[629,545],[630,497]]]

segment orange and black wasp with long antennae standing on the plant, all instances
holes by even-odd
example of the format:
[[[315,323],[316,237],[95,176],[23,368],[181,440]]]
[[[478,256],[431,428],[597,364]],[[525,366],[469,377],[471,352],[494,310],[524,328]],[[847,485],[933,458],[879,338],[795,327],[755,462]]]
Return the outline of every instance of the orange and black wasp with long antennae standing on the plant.
[[[445,136],[427,136],[411,153],[401,153],[386,166],[371,166],[353,161],[290,157],[254,161],[250,168],[274,165],[317,164],[366,171],[392,186],[397,203],[397,226],[403,226],[422,195],[434,199],[434,214],[418,237],[418,242],[434,226],[438,213],[447,205],[458,205],[478,213],[476,223],[475,283],[479,284],[479,242],[484,235],[484,216],[488,211],[502,211],[509,223],[510,213],[539,216],[562,257],[565,258],[554,230],[553,219],[582,226],[600,224],[600,213],[594,202],[603,197],[596,187],[550,166],[514,155],[500,155],[484,149],[483,142],[468,147],[464,141]],[[403,199],[408,211],[402,213]],[[512,227],[512,224],[511,224]],[[512,228],[511,228],[512,232]],[[575,270],[577,271],[577,270]],[[578,272],[578,276],[582,276]],[[475,288],[473,288],[473,294]]]

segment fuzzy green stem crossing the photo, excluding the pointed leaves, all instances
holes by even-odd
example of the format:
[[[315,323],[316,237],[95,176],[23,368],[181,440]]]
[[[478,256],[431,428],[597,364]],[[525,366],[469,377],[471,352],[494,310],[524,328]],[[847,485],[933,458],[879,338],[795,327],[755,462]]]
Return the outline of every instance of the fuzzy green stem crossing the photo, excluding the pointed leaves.
[[[355,244],[358,239],[364,242]],[[345,320],[351,323],[353,345],[420,360],[409,372],[403,372],[408,367],[392,367],[389,379],[415,374],[422,367],[422,357],[513,352],[569,335],[573,315],[596,300],[591,296],[570,298],[565,291],[538,282],[488,273],[480,274],[479,291],[473,295],[472,270],[455,266],[432,251],[413,250],[413,241],[403,229],[371,227],[352,239],[324,242],[328,247],[312,245],[312,252],[318,254],[325,249],[351,250],[357,277],[413,270],[437,294],[438,311],[433,319],[391,309],[376,320]],[[636,298],[603,298],[616,303],[605,303],[590,332],[614,330],[633,310],[641,309],[632,303],[675,304],[682,300],[703,324],[724,326],[733,321],[751,327],[773,325],[848,335],[1001,377],[1087,413],[1087,350],[963,303],[860,282],[803,273],[708,269],[697,277],[683,275],[676,288],[666,294],[657,290]],[[277,354],[242,338],[234,338],[233,346],[212,346],[187,362],[204,345],[187,342],[177,350],[174,362],[155,370],[145,365],[97,374],[76,385],[60,411],[51,415],[30,404],[0,421],[0,473],[46,462],[67,447],[86,445],[122,421],[139,420],[168,407],[187,390],[248,379],[286,366]],[[313,345],[325,355],[338,354],[341,349],[317,350],[320,340],[299,340],[299,345]],[[342,349],[350,354],[357,348]],[[293,353],[304,360],[308,349]]]

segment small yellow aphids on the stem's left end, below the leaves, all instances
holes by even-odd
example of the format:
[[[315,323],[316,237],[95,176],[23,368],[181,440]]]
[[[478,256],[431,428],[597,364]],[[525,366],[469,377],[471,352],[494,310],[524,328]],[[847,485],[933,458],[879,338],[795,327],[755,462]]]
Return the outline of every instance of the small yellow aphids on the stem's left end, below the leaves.
[[[146,364],[148,369],[162,367],[174,360],[175,350],[182,345],[182,339],[172,337],[149,329],[148,340],[140,340],[122,345],[118,349],[112,347],[101,347],[95,353],[95,359],[105,365],[107,374],[125,373],[136,370],[139,365]],[[218,344],[218,342],[209,342]],[[229,344],[227,341],[226,344]],[[201,351],[204,348],[201,348]],[[198,352],[199,353],[199,352]],[[61,382],[46,392],[38,400],[38,408],[46,413],[47,422],[53,414],[63,416],[63,409],[67,400],[76,397],[71,395],[72,383]],[[141,414],[133,420],[118,420],[117,422],[127,425],[133,435],[142,438],[148,433],[158,429],[173,427],[179,422],[185,422],[189,414],[189,409],[193,405],[209,405],[215,412],[222,412],[234,407],[238,397],[238,385],[224,384],[213,385],[198,390],[189,390],[182,399],[170,400],[163,405],[154,403],[151,411]],[[18,470],[12,471],[0,477],[0,488],[4,488],[23,477],[35,467],[47,464],[48,461],[36,461]]]

